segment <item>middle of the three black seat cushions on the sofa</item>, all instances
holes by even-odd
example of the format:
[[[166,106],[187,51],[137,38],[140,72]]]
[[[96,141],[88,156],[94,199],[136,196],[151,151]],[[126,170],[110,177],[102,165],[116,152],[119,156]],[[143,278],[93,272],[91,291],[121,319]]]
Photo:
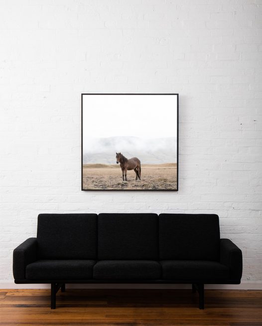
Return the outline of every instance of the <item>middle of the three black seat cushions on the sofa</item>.
[[[96,280],[159,280],[161,266],[150,260],[102,260],[93,271]]]

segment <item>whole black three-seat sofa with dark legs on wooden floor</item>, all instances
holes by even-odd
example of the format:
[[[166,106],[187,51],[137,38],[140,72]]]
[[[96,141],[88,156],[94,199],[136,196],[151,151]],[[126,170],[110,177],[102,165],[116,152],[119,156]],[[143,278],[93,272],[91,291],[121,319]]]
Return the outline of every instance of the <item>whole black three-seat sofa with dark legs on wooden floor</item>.
[[[242,252],[213,214],[40,214],[37,237],[13,251],[16,284],[240,284]]]

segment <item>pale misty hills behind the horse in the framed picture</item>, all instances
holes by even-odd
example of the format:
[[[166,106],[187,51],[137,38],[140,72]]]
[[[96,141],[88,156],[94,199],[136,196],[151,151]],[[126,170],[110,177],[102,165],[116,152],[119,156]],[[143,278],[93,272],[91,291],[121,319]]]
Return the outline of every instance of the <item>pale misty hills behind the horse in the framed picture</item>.
[[[121,152],[128,159],[137,157],[142,164],[175,163],[176,138],[108,137],[88,139],[83,144],[83,164],[115,164],[116,152]]]

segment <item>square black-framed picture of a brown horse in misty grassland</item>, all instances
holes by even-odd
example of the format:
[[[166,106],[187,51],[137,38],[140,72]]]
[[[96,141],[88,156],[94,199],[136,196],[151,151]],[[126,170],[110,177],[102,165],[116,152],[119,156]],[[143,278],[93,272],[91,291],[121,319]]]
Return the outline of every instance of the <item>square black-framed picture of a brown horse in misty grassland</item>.
[[[82,190],[178,190],[178,94],[82,94]]]

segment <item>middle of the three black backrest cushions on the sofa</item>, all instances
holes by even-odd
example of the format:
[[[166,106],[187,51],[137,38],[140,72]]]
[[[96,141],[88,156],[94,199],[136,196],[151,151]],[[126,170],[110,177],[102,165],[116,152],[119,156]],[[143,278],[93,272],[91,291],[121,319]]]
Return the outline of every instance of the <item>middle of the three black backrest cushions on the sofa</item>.
[[[157,260],[157,214],[99,214],[98,259]]]

